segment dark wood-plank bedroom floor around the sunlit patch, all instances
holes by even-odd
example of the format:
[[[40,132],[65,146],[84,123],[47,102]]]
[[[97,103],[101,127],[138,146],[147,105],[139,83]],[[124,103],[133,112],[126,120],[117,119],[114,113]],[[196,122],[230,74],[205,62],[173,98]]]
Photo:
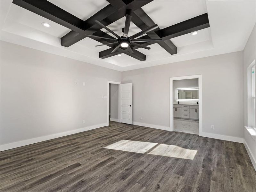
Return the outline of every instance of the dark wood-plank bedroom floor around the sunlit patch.
[[[197,150],[193,160],[103,147],[120,140]],[[110,122],[0,153],[0,191],[255,192],[242,143]]]

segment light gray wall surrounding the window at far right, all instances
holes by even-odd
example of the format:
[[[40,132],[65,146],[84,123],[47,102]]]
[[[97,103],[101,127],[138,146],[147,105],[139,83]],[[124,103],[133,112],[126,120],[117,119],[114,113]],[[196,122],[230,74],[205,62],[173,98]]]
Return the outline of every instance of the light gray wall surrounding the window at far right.
[[[247,108],[247,68],[256,59],[256,25],[244,48],[244,125],[248,126],[248,108]],[[251,119],[251,118],[250,118]],[[250,125],[249,125],[250,126]],[[252,139],[251,135],[244,128],[244,141],[247,148],[249,148],[249,155],[251,152],[251,160],[256,169],[256,141]]]

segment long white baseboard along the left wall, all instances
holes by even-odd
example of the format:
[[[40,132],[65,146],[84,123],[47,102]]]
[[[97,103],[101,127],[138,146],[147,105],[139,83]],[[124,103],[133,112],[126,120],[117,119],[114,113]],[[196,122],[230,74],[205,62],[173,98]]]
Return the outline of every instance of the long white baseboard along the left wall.
[[[22,141],[17,141],[17,142],[13,142],[13,143],[7,143],[7,144],[4,144],[4,145],[0,146],[0,151],[5,151],[5,150],[8,150],[8,149],[17,148],[17,147],[21,147],[21,146],[25,146],[25,145],[30,145],[30,144],[38,143],[38,142],[41,142],[41,141],[55,139],[55,138],[58,138],[58,137],[63,137],[63,136],[66,136],[66,135],[71,135],[71,134],[75,134],[75,133],[79,133],[79,132],[84,132],[84,131],[88,131],[88,130],[92,130],[92,129],[96,129],[96,128],[100,128],[100,127],[104,127],[104,126],[107,126],[107,123],[92,125],[92,126],[83,127],[83,128],[80,128],[80,129],[75,129],[75,130],[61,132],[61,133],[55,133],[55,134],[52,134],[52,135],[46,135],[46,136],[42,136],[42,137],[36,137],[36,138],[28,139],[28,140],[22,140]]]

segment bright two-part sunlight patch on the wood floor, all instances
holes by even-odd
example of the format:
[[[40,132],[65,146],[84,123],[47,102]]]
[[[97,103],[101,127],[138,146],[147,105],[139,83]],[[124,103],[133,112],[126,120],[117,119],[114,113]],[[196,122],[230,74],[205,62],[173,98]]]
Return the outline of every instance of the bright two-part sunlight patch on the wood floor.
[[[104,148],[182,159],[194,159],[194,156],[197,153],[197,150],[186,149],[177,145],[166,145],[132,140],[120,140]]]

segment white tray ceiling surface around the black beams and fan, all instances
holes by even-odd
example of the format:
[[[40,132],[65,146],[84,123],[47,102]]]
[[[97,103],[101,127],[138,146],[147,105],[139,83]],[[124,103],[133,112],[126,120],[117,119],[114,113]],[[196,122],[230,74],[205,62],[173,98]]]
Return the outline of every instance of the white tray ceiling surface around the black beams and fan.
[[[49,0],[49,2],[75,15],[81,20],[87,20],[109,3],[106,0]],[[241,51],[255,24],[255,1],[158,1],[154,0],[142,6],[143,11],[157,23],[160,29],[175,25],[182,21],[208,13],[210,27],[197,31],[197,35],[187,33],[171,38],[177,46],[177,54],[170,54],[159,44],[148,45],[150,50],[136,49],[146,55],[145,61],[121,53],[105,59],[99,58],[99,52],[109,49],[107,45],[95,47],[100,42],[86,37],[69,47],[61,45],[61,37],[70,32],[51,20],[30,12],[12,0],[1,3],[1,40],[62,55],[95,65],[125,71],[136,68],[172,63],[182,60],[202,58],[211,55]],[[41,23],[46,22],[51,27],[46,28]],[[109,24],[118,35],[122,35],[125,17]],[[105,29],[103,32],[110,36]],[[131,22],[129,36],[140,32]]]

